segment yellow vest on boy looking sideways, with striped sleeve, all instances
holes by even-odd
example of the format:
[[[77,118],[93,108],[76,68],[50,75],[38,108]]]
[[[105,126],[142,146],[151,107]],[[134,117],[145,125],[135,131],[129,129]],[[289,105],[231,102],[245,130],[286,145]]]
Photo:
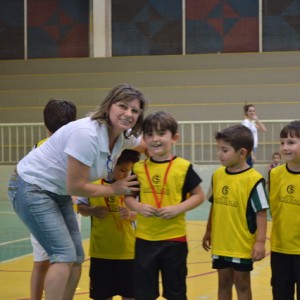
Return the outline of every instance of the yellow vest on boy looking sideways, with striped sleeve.
[[[220,167],[213,174],[212,254],[250,259],[256,234],[249,231],[246,210],[251,192],[262,179],[254,169],[227,174]]]

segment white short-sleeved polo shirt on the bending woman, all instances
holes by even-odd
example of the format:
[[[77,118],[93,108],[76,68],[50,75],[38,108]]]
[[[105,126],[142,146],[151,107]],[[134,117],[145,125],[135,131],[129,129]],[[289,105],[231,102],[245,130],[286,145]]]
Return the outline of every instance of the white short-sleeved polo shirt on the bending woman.
[[[32,150],[17,165],[19,176],[28,183],[59,194],[67,195],[66,174],[68,156],[89,166],[89,180],[107,177],[107,159],[115,166],[124,149],[139,145],[141,137],[125,139],[121,134],[112,150],[108,147],[108,130],[90,117],[70,122],[57,130],[40,147]]]

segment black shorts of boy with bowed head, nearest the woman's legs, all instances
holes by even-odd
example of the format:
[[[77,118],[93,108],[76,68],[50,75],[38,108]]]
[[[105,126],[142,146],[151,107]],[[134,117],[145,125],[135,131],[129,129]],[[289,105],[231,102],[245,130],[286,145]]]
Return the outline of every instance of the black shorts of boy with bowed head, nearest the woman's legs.
[[[120,295],[134,298],[133,259],[91,257],[90,298],[105,300]]]

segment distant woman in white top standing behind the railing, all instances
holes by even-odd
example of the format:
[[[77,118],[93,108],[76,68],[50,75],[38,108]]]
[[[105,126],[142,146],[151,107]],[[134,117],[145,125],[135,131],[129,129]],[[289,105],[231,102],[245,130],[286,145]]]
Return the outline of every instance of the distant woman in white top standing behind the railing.
[[[265,125],[258,119],[256,114],[256,109],[253,104],[245,104],[244,105],[244,120],[242,121],[242,124],[246,127],[248,127],[253,135],[254,139],[254,145],[253,150],[251,152],[251,155],[247,158],[247,164],[252,167],[255,160],[256,160],[256,151],[258,146],[258,131],[266,132],[267,129]]]

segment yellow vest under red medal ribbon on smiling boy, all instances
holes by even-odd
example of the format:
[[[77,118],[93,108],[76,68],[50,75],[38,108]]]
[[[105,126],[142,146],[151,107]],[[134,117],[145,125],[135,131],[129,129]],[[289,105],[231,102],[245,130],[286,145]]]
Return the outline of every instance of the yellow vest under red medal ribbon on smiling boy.
[[[152,181],[159,199],[161,198],[161,192],[164,187],[161,207],[176,205],[183,201],[182,189],[190,162],[180,157],[174,158],[168,172],[165,186],[163,183],[169,162],[158,163],[147,159],[146,164],[150,180]],[[155,197],[145,172],[144,161],[135,163],[133,170],[140,182],[140,202],[157,207]],[[139,214],[137,216],[136,237],[138,238],[148,241],[163,241],[185,235],[186,223],[184,213],[172,219],[162,219],[155,216],[146,218]]]

